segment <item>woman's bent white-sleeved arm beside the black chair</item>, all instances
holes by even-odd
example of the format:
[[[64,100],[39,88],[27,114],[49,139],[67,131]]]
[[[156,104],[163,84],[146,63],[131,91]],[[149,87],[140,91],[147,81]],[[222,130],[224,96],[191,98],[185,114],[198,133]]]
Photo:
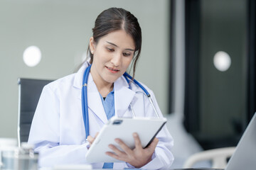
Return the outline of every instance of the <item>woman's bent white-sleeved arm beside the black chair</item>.
[[[31,124],[28,143],[39,152],[39,166],[85,164],[87,143],[60,145],[60,99],[50,86],[43,88]]]

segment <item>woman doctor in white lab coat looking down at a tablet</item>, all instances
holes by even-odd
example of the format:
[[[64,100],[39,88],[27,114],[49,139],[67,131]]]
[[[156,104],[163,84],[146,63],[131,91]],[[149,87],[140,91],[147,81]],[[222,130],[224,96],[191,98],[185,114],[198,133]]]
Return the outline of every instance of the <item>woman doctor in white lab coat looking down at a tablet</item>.
[[[53,81],[43,88],[33,117],[28,143],[39,152],[39,166],[58,164],[87,164],[85,154],[107,120],[112,116],[155,117],[156,113],[141,87],[123,74],[133,63],[133,72],[142,47],[142,32],[137,18],[123,8],[102,11],[92,28],[88,53],[90,62],[85,62],[77,73]],[[88,73],[85,78],[85,72]],[[134,74],[133,74],[134,76]],[[87,79],[87,83],[84,81]],[[87,90],[89,136],[86,139],[82,108],[84,89]],[[144,84],[142,84],[144,86]],[[153,92],[146,86],[156,111],[161,115]],[[131,106],[132,109],[131,109]],[[162,128],[151,145],[142,148],[137,133],[134,133],[134,149],[129,149],[122,140],[115,142],[124,150],[110,145],[110,157],[119,163],[97,163],[93,168],[142,168],[165,169],[171,166],[173,140],[166,126]],[[88,141],[88,142],[87,142]]]

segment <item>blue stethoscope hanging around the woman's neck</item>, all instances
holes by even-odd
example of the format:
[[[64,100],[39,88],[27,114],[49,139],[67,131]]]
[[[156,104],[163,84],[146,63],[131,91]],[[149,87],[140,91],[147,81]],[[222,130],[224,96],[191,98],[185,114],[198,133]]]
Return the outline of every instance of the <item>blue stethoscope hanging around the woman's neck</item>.
[[[85,139],[87,139],[87,137],[89,136],[89,115],[88,115],[89,112],[88,112],[88,101],[87,101],[87,81],[88,81],[88,77],[89,77],[89,74],[90,74],[90,68],[91,67],[92,67],[92,64],[90,64],[90,66],[88,66],[85,69],[85,72],[84,72],[83,77],[82,77],[82,118],[83,118],[84,124],[85,124],[85,135],[86,135]],[[149,94],[149,91],[147,91],[144,88],[144,86],[142,86],[142,84],[140,84],[137,80],[132,79],[132,77],[127,72],[125,72],[123,74],[123,76],[127,80],[127,83],[129,84],[129,89],[131,89],[130,80],[129,80],[129,79],[131,79],[131,81],[134,81],[134,84],[137,84],[137,86],[139,86],[144,91],[144,93],[143,92],[141,92],[141,93],[146,95],[147,98],[149,98],[149,102],[151,103],[151,106],[154,108],[154,112],[156,113],[156,116],[159,118],[159,114],[156,111],[156,108],[155,108],[154,103],[152,101],[152,98]],[[129,107],[131,108],[132,116],[135,117],[132,105],[130,104]]]

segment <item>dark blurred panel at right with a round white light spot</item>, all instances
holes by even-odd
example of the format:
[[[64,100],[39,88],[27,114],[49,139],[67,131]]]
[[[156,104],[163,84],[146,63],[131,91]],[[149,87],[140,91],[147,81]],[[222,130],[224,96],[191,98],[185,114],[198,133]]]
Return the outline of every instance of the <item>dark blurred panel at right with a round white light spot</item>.
[[[186,130],[236,146],[255,113],[255,1],[185,1]]]

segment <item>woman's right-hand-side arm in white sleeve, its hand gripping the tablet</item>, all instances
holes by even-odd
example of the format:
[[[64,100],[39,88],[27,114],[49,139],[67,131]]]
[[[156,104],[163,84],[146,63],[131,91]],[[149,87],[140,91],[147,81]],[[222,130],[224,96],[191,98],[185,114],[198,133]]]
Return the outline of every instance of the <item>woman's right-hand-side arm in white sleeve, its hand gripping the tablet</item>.
[[[162,117],[163,115],[161,114],[159,106],[157,106],[153,92],[150,92],[150,94],[154,101],[156,110],[158,111],[160,117]],[[143,100],[145,108],[145,115],[143,116],[156,117],[154,109],[152,108],[151,103],[149,103],[149,99],[145,97]],[[122,140],[117,139],[116,142],[124,150],[124,152],[114,147],[114,145],[110,145],[110,149],[112,149],[115,154],[111,152],[107,152],[107,154],[115,159],[127,162],[129,167],[137,167],[142,169],[168,168],[171,166],[174,157],[171,154],[173,140],[166,128],[166,125],[159,132],[156,138],[157,139],[155,139],[154,142],[152,142],[151,145],[145,149],[142,148],[138,136],[134,136],[135,149],[129,149],[129,147],[127,147]]]

